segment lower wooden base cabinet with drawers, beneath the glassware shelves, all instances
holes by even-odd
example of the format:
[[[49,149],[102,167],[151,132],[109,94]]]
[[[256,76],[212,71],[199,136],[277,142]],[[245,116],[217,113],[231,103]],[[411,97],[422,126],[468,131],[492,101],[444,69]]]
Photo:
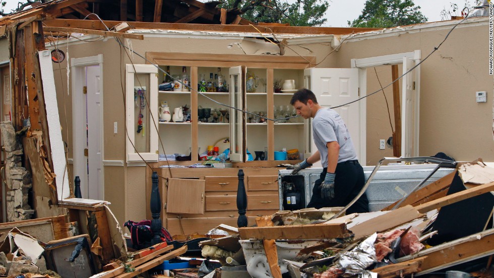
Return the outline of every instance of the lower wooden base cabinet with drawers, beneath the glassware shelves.
[[[278,211],[278,169],[244,168],[249,225]],[[220,224],[236,227],[238,169],[155,169],[162,194],[163,227],[174,234],[204,234]],[[170,178],[173,177],[173,178]],[[165,182],[166,181],[166,182]]]

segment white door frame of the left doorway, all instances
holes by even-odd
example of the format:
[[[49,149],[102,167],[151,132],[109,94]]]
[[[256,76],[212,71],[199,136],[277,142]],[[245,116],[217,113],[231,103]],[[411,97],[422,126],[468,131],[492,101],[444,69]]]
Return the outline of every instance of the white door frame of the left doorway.
[[[73,171],[74,177],[76,173],[80,173],[82,171],[87,172],[87,163],[81,163],[81,158],[84,158],[84,148],[86,146],[85,138],[86,138],[86,106],[80,105],[81,103],[85,103],[83,86],[86,85],[86,67],[98,65],[101,80],[103,79],[103,54],[98,54],[96,56],[83,57],[83,58],[72,58],[71,59],[71,71],[72,71],[72,156],[74,161]],[[103,92],[103,82],[100,82],[100,91]],[[101,108],[99,110],[100,119],[103,119],[103,98],[101,99]],[[84,116],[81,116],[84,115]],[[104,199],[104,167],[103,167],[103,159],[104,159],[104,145],[103,145],[103,124],[101,124],[100,128],[100,144],[101,144],[101,177],[100,177],[100,188],[99,188],[99,196],[103,200]],[[84,147],[82,147],[84,146]],[[89,196],[89,184],[87,178],[81,178],[81,193],[82,197],[86,198]]]

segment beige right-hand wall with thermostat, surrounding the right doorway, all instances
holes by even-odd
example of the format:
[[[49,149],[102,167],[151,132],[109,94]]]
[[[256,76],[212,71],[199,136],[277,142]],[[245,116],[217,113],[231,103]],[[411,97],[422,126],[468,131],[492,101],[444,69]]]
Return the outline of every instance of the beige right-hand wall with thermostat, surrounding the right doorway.
[[[452,27],[452,26],[451,26]],[[450,28],[451,28],[450,27]],[[421,30],[399,36],[344,43],[337,54],[338,67],[349,67],[351,58],[366,58],[421,50],[422,58],[444,39],[445,30]],[[456,28],[441,48],[421,64],[419,155],[438,152],[461,161],[483,158],[494,161],[492,141],[492,88],[488,75],[488,25]],[[381,72],[389,84],[390,66]],[[384,67],[386,68],[386,66]],[[380,72],[382,68],[378,69]],[[381,77],[383,76],[383,77]],[[383,79],[386,79],[384,81]],[[373,68],[367,69],[367,93],[378,90]],[[390,96],[392,89],[387,89]],[[487,102],[476,103],[475,92],[487,91]],[[388,98],[390,100],[390,98]],[[393,116],[393,114],[392,114]],[[382,93],[367,98],[367,164],[375,164],[388,151],[378,149],[390,136]]]

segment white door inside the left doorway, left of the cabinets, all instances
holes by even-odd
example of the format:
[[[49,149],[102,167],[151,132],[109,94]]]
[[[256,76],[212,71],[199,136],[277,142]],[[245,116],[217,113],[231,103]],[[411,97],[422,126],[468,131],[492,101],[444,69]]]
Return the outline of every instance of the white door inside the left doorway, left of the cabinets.
[[[99,66],[88,66],[86,70],[87,86],[87,146],[88,146],[88,197],[102,200],[101,184],[101,121],[102,92]]]

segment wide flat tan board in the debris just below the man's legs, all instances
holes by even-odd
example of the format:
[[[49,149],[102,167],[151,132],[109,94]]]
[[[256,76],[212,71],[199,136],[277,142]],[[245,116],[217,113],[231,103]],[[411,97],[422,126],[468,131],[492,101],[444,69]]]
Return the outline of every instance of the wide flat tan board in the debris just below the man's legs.
[[[355,234],[354,240],[358,240],[376,232],[387,231],[422,216],[423,215],[419,213],[415,207],[406,205],[397,208],[394,211],[382,213],[377,217],[358,223],[354,226],[349,224],[348,229]],[[365,217],[365,214],[361,214],[360,217]],[[357,220],[358,217],[353,219],[353,221]]]

